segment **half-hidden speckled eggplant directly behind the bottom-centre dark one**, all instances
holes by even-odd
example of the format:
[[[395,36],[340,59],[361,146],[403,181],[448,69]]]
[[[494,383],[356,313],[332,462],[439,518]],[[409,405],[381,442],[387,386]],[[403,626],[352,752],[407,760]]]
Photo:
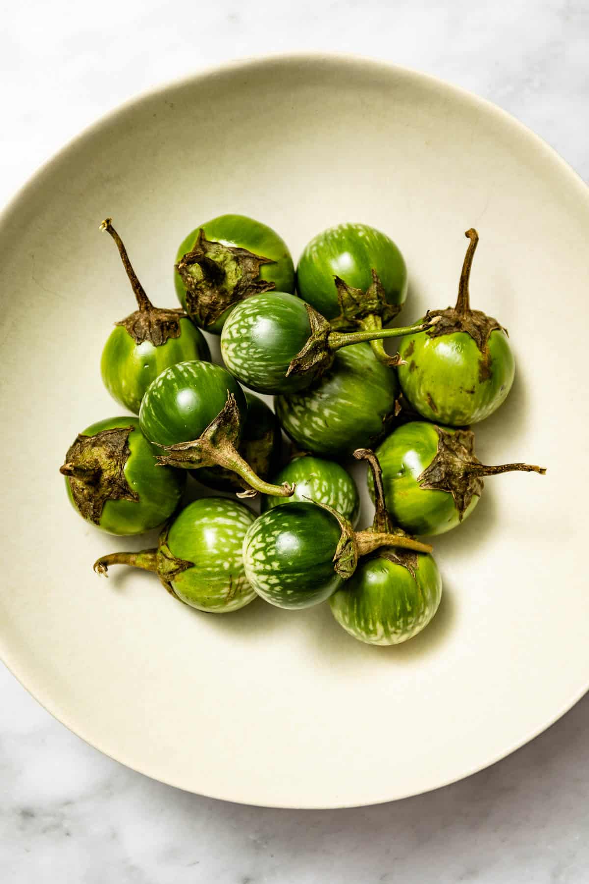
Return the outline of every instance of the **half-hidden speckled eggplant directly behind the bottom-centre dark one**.
[[[290,498],[264,497],[262,512],[280,504],[305,502],[309,499],[327,504],[342,514],[352,525],[356,525],[360,513],[360,499],[356,483],[344,467],[335,461],[306,454],[295,457],[272,479],[274,484],[288,482],[294,484],[295,491]]]

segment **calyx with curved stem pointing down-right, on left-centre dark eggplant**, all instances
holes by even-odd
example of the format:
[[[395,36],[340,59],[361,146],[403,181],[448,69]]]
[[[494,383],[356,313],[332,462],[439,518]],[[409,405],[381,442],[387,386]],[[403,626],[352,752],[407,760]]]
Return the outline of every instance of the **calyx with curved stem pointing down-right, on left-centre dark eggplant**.
[[[222,410],[208,424],[200,438],[189,442],[177,442],[171,446],[155,443],[165,452],[156,457],[157,463],[161,466],[183,469],[214,466],[230,469],[244,480],[246,490],[238,494],[240,498],[253,498],[258,493],[290,497],[294,492],[292,485],[268,484],[254,473],[250,464],[238,452],[241,437],[240,420],[237,400],[233,393],[228,392]]]

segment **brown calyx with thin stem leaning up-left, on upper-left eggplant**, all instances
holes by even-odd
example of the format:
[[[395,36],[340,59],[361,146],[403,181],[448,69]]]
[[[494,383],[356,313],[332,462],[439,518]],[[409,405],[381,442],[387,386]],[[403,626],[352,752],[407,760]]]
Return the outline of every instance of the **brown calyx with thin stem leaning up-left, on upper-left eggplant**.
[[[123,325],[136,344],[148,340],[154,347],[161,347],[169,338],[179,338],[182,331],[180,320],[187,318],[185,311],[154,307],[132,268],[123,240],[112,226],[112,218],[105,218],[100,229],[108,232],[117,243],[118,253],[137,299],[138,309],[115,325]]]

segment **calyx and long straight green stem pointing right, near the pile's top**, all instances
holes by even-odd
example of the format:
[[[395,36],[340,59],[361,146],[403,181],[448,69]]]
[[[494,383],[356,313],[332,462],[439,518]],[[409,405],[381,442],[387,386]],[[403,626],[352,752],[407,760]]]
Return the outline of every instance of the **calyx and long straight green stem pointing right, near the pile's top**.
[[[286,372],[286,377],[295,375],[313,374],[313,377],[319,377],[328,370],[334,360],[336,351],[341,347],[350,347],[353,344],[360,344],[364,341],[382,341],[384,338],[402,338],[406,334],[415,334],[419,331],[426,331],[435,325],[439,317],[427,316],[422,322],[414,325],[408,325],[404,328],[383,329],[381,324],[374,322],[373,327],[368,327],[362,331],[334,331],[331,323],[321,316],[310,304],[306,304],[306,312],[309,316],[309,324],[311,325],[311,335],[306,341],[298,354],[291,360],[291,364]],[[382,351],[384,353],[384,350]],[[398,365],[400,358],[389,357],[386,364]],[[378,354],[377,354],[378,358]],[[382,360],[381,360],[382,361]]]

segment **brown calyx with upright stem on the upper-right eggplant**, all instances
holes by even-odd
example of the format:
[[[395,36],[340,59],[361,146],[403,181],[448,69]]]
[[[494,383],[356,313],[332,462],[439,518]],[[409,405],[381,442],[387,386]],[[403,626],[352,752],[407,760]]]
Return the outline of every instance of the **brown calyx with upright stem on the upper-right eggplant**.
[[[507,334],[507,329],[504,329],[493,316],[487,316],[481,310],[471,309],[469,280],[471,277],[472,258],[479,242],[479,234],[471,228],[465,232],[464,236],[471,241],[464,256],[456,306],[445,310],[435,310],[434,312],[440,316],[440,321],[434,328],[429,329],[427,334],[430,338],[439,338],[445,334],[465,331],[479,347],[480,353],[483,355],[484,365],[489,362],[487,341],[491,331],[504,331]],[[482,369],[483,367],[481,366]]]

